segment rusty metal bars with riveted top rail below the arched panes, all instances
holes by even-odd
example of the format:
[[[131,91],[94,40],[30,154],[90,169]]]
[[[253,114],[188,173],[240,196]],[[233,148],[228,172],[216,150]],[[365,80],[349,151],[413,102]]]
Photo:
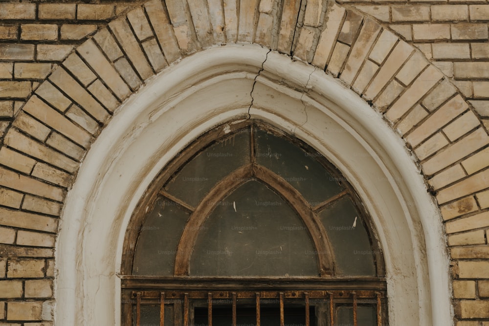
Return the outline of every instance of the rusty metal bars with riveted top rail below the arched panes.
[[[382,326],[382,304],[386,299],[385,292],[380,292],[377,290],[334,290],[334,291],[322,291],[322,290],[292,290],[292,291],[132,291],[131,294],[131,305],[135,305],[136,316],[135,324],[136,326],[141,326],[141,305],[142,304],[160,304],[160,326],[164,326],[165,318],[165,301],[172,303],[175,300],[181,300],[183,298],[183,325],[189,326],[189,309],[190,301],[194,299],[207,299],[207,313],[208,313],[208,326],[212,326],[212,300],[213,298],[232,298],[232,325],[236,326],[237,320],[237,298],[240,299],[254,299],[256,304],[256,325],[261,324],[261,299],[279,299],[280,307],[280,325],[285,324],[285,301],[290,299],[304,299],[305,309],[306,309],[306,326],[310,325],[310,299],[327,299],[329,304],[329,325],[334,326],[335,324],[335,306],[337,304],[352,304],[353,306],[353,319],[354,326],[358,325],[357,321],[357,308],[358,299],[370,298],[374,300],[375,307],[377,310],[377,326]],[[131,309],[125,309],[128,312]],[[131,320],[127,318],[125,320]]]

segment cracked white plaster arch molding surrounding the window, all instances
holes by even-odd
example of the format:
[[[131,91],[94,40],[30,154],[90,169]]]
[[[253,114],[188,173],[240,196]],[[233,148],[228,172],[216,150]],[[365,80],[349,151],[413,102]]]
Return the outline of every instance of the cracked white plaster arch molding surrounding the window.
[[[294,132],[356,188],[384,250],[390,325],[452,325],[441,217],[400,137],[323,71],[252,44],[212,47],[161,72],[92,145],[57,240],[55,325],[120,325],[117,273],[138,200],[189,142],[248,114]]]

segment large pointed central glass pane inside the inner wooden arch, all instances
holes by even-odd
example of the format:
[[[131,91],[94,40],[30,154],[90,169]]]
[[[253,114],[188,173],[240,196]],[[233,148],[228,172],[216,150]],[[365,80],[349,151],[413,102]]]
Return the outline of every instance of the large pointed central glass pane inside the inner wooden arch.
[[[202,225],[190,274],[317,276],[314,252],[289,204],[261,182],[248,181],[220,201]]]

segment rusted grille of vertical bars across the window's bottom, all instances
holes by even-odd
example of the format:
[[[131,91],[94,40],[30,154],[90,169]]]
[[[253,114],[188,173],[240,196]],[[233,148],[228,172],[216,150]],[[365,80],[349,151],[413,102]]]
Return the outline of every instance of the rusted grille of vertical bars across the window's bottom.
[[[310,326],[310,308],[311,306],[325,307],[328,311],[322,310],[324,315],[320,318],[317,324],[318,326],[336,326],[338,325],[336,308],[339,306],[348,306],[353,308],[353,324],[352,326],[359,326],[357,320],[357,310],[359,305],[367,305],[374,307],[376,311],[377,320],[374,321],[376,326],[382,326],[383,316],[386,315],[386,295],[385,291],[378,290],[287,290],[287,291],[134,291],[126,292],[129,296],[128,301],[125,303],[130,308],[127,311],[135,311],[135,314],[131,314],[135,320],[130,321],[130,325],[143,326],[141,324],[141,307],[143,305],[158,305],[159,304],[159,325],[160,326],[193,326],[195,325],[193,320],[193,309],[196,303],[200,302],[202,308],[202,302],[205,302],[206,307],[203,307],[207,311],[207,325],[212,326],[213,308],[222,305],[225,301],[227,306],[231,306],[231,320],[232,326],[237,326],[237,318],[239,316],[238,307],[242,303],[251,303],[255,306],[255,316],[257,326],[261,325],[261,308],[263,302],[269,302],[274,299],[278,302],[279,306],[279,320],[280,326],[286,326],[285,313],[287,312],[287,304],[293,302],[295,305],[301,304],[304,308],[304,324]],[[165,306],[179,305],[180,308],[175,311],[181,311],[182,318],[176,316],[175,319],[165,324]],[[126,319],[127,320],[127,319]],[[200,324],[201,325],[201,324]],[[345,324],[341,324],[345,325]]]

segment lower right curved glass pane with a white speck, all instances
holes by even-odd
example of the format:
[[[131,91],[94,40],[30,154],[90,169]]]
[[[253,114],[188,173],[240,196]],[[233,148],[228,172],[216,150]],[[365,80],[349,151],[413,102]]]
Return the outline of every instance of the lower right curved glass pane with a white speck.
[[[375,253],[353,201],[343,197],[321,211],[319,218],[333,246],[336,274],[374,276]]]

